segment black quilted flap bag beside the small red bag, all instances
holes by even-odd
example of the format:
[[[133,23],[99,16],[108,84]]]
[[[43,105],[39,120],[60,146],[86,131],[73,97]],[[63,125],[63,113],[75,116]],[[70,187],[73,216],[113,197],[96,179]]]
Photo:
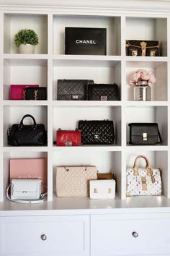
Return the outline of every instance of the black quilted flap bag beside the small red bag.
[[[79,130],[83,145],[110,145],[115,139],[113,121],[81,120]]]

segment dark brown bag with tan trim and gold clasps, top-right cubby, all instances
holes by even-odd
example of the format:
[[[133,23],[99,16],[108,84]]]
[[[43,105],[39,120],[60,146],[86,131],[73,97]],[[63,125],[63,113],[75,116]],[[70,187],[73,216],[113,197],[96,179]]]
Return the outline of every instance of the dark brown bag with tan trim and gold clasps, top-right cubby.
[[[154,40],[126,40],[127,56],[161,56],[160,42]]]

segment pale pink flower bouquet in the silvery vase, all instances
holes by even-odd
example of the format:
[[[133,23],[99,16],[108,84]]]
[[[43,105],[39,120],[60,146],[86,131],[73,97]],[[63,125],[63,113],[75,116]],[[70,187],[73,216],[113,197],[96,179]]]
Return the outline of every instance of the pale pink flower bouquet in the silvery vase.
[[[146,71],[145,69],[138,69],[132,75],[132,80],[130,80],[130,85],[137,85],[138,81],[148,81],[148,83],[154,84],[156,82],[156,77],[151,72]]]

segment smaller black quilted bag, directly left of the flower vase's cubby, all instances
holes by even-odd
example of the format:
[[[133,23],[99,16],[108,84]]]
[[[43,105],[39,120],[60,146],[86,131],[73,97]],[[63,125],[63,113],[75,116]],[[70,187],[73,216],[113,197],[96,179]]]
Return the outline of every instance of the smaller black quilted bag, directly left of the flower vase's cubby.
[[[88,85],[89,101],[119,101],[119,86],[117,84]]]

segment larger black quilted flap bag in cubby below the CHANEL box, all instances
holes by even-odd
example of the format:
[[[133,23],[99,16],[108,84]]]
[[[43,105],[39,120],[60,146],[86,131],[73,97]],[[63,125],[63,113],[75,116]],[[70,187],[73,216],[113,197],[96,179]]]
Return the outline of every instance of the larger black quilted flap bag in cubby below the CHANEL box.
[[[93,80],[58,80],[58,101],[86,101],[86,86]]]

